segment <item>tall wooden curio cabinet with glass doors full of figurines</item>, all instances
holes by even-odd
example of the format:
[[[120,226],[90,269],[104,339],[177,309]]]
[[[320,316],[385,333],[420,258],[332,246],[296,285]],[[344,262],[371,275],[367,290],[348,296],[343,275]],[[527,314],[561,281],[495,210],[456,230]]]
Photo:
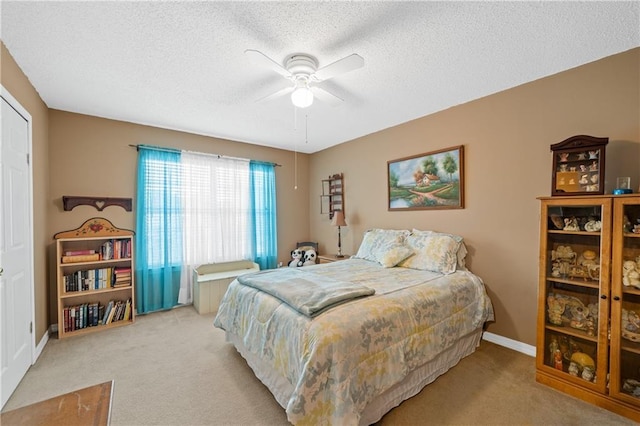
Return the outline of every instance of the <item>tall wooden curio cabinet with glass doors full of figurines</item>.
[[[540,200],[536,380],[640,421],[640,197]]]

